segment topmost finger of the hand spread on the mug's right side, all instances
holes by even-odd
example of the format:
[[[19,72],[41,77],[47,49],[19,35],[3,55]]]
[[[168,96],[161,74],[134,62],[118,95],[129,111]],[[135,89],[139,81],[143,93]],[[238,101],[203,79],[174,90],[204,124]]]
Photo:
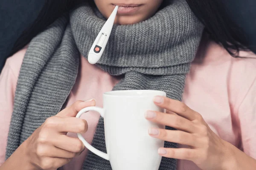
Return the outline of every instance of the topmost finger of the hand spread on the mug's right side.
[[[180,102],[178,100],[170,99],[163,96],[156,96],[154,98],[154,103],[161,108],[165,108],[166,110],[172,111],[174,113],[177,113],[178,115],[189,119],[189,120],[195,120],[199,117],[199,113],[193,111],[191,108],[189,108],[187,105],[185,105],[183,102]],[[198,115],[199,114],[199,115]]]

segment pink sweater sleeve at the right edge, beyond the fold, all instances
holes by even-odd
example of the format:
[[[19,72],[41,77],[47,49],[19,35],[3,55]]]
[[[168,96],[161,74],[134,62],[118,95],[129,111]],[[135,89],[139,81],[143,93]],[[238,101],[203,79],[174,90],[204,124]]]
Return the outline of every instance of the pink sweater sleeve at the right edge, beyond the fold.
[[[238,116],[243,151],[256,159],[256,79],[239,106]]]

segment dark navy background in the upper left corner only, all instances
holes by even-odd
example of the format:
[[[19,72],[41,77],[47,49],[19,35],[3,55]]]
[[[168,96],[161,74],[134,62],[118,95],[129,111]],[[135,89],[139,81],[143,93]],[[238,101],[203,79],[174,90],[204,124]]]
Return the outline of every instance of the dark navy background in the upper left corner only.
[[[0,0],[0,72],[15,41],[43,4],[44,0]]]

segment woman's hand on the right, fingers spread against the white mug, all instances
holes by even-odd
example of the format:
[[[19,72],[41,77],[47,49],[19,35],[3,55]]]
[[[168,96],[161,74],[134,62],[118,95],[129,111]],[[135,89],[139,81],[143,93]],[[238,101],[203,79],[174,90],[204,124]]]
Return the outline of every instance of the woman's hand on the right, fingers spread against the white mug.
[[[156,96],[154,102],[166,113],[148,111],[146,119],[177,130],[149,129],[155,138],[188,145],[189,148],[160,148],[159,154],[174,159],[193,161],[203,170],[222,170],[230,159],[230,143],[218,137],[204,121],[201,114],[193,111],[184,103],[162,96]]]

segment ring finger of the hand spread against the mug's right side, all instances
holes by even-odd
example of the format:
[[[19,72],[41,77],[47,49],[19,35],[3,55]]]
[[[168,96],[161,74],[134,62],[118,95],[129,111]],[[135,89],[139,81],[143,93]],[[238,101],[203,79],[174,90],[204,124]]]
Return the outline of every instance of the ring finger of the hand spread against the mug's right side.
[[[161,139],[167,142],[185,144],[192,147],[199,147],[201,145],[196,136],[180,130],[150,128],[148,130],[148,134],[154,138]]]

